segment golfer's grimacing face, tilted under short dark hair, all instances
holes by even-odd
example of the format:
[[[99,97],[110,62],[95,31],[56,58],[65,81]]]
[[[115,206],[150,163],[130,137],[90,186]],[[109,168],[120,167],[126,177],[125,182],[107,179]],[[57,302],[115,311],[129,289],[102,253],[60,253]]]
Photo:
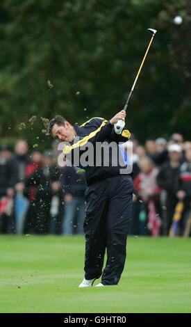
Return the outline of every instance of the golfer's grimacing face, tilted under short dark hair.
[[[52,136],[62,142],[72,142],[74,139],[74,129],[68,122],[65,122],[65,125],[62,126],[55,124],[52,128]]]

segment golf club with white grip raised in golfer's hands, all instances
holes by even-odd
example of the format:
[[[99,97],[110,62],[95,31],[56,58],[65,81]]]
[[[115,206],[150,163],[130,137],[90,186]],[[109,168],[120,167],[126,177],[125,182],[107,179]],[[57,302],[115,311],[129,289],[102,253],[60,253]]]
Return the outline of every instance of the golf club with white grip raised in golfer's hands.
[[[131,97],[131,94],[133,93],[133,90],[134,90],[134,88],[135,88],[135,84],[136,84],[136,82],[138,81],[138,77],[139,77],[139,75],[140,75],[140,72],[141,72],[141,70],[142,70],[142,66],[143,66],[143,64],[144,64],[144,61],[145,61],[145,58],[147,57],[147,54],[148,54],[148,52],[149,52],[149,48],[151,47],[151,43],[153,42],[153,38],[154,38],[154,36],[156,35],[156,29],[148,29],[148,31],[152,34],[152,36],[151,36],[151,40],[150,40],[150,42],[149,42],[149,45],[148,45],[148,47],[147,47],[147,50],[146,50],[146,52],[145,52],[145,54],[144,54],[144,58],[142,59],[142,63],[140,64],[140,68],[139,68],[139,70],[138,70],[138,74],[136,75],[136,77],[135,77],[135,81],[134,81],[134,83],[133,83],[133,86],[132,86],[132,88],[131,88],[131,92],[129,93],[129,95],[128,95],[128,98],[127,98],[127,100],[126,100],[126,104],[124,105],[124,111],[126,111],[126,109],[127,109],[127,107],[128,107],[128,102],[129,102],[129,99],[130,99],[130,97]],[[122,127],[123,126],[123,127]],[[115,131],[120,131],[121,132],[121,130],[122,130],[122,128],[124,128],[124,120],[118,120],[118,122],[115,124]],[[118,133],[119,134],[119,133]]]

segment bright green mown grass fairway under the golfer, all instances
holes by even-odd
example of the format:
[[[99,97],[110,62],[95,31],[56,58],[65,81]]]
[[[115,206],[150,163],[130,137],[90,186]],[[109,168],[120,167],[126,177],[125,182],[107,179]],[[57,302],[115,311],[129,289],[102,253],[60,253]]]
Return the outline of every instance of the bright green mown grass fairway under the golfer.
[[[0,244],[0,312],[191,312],[191,239],[129,237],[119,285],[85,289],[83,237]]]

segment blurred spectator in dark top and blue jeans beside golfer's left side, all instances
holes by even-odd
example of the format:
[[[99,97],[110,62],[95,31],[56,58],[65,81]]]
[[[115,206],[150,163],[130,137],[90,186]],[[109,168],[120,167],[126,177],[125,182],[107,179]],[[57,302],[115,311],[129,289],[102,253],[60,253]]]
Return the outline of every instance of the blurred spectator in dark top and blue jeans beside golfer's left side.
[[[74,226],[76,233],[83,234],[83,221],[85,218],[85,177],[76,173],[76,168],[65,166],[61,173],[61,188],[65,201],[65,214],[63,218],[63,234],[72,235]]]

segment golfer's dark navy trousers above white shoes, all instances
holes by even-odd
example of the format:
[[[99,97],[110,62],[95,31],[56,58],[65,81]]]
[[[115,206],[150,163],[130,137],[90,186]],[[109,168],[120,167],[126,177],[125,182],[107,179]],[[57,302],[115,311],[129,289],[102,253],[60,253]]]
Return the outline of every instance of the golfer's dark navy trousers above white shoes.
[[[103,285],[117,285],[126,260],[133,204],[131,176],[118,175],[95,182],[85,191],[85,201],[85,278],[102,275]],[[102,274],[106,250],[107,262]]]

